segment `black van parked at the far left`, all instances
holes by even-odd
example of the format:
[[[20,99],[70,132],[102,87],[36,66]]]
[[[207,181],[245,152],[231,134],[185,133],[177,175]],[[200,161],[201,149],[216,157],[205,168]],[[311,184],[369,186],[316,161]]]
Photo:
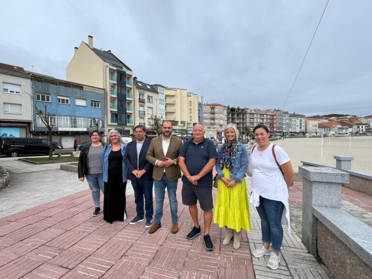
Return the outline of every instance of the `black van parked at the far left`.
[[[45,139],[0,138],[0,154],[9,157],[17,157],[18,155],[49,155],[49,143],[50,140]]]

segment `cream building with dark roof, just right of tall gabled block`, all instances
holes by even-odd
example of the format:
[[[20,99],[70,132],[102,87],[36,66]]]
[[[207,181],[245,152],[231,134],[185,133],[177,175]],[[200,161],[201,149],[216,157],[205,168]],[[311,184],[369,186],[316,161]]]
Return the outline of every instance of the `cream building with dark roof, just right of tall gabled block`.
[[[159,116],[159,93],[150,84],[133,78],[133,90],[136,96],[134,123],[146,127],[148,136],[156,136],[156,131],[150,128],[151,117]]]

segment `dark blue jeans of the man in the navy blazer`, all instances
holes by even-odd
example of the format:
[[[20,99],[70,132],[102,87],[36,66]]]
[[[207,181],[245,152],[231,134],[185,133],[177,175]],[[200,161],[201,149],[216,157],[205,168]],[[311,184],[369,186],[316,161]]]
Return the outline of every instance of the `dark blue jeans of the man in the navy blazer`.
[[[136,202],[136,212],[137,216],[143,218],[143,197],[145,198],[145,210],[146,210],[146,220],[151,220],[154,215],[154,205],[153,205],[153,185],[154,180],[143,180],[137,178],[132,181],[132,187],[134,190],[134,202]]]

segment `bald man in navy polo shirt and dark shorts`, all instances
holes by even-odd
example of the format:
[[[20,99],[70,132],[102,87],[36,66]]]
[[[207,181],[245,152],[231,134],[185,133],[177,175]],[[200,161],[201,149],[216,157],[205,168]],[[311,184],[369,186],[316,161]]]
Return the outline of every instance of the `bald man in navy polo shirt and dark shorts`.
[[[212,185],[213,167],[216,165],[217,151],[211,140],[204,138],[204,127],[196,124],[193,127],[193,139],[187,141],[179,155],[179,166],[184,173],[182,176],[182,202],[188,205],[194,227],[187,234],[188,239],[194,239],[202,234],[198,221],[198,207],[204,211],[204,245],[205,249],[213,250],[213,243],[209,236],[212,224]]]

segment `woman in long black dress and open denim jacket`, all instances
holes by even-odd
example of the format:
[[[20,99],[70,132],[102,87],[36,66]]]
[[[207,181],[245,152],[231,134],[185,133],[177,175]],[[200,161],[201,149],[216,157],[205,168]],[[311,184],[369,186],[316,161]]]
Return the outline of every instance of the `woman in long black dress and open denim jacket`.
[[[109,131],[107,145],[102,151],[103,181],[105,194],[103,200],[103,219],[108,223],[124,221],[126,166],[123,156],[125,145],[122,136],[116,130]]]

